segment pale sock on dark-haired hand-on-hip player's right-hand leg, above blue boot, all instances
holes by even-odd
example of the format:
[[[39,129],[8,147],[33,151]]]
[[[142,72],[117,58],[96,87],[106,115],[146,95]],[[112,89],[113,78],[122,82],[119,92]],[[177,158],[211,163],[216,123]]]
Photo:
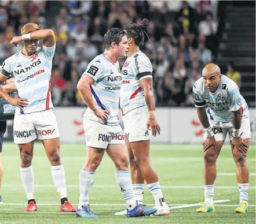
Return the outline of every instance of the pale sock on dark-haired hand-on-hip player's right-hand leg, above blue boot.
[[[137,204],[133,192],[133,186],[131,184],[130,171],[117,170],[115,171],[115,176],[116,182],[118,182],[121,192],[123,193],[123,197],[125,198],[127,208],[132,210],[137,206]]]

